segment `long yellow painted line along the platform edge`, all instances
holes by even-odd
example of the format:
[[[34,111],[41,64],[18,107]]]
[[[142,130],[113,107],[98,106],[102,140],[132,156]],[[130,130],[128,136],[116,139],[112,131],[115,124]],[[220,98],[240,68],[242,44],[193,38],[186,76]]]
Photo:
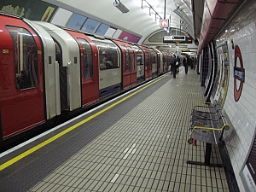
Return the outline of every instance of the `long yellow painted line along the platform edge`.
[[[118,105],[120,102],[124,102],[126,99],[130,98],[131,96],[136,95],[138,92],[148,88],[149,86],[151,86],[152,84],[155,84],[156,82],[160,81],[161,79],[164,79],[166,77],[163,76],[160,79],[156,79],[154,82],[152,82],[151,84],[147,84],[146,86],[144,86],[142,89],[137,90],[133,93],[131,93],[129,96],[125,96],[123,99],[119,100],[118,102],[114,102],[112,105],[108,106],[107,108],[103,108],[101,111],[91,115],[90,117],[80,121],[79,123],[67,128],[67,130],[61,131],[60,133],[58,133],[57,135],[55,135],[54,137],[50,137],[49,139],[47,139],[46,141],[44,141],[43,143],[38,144],[37,146],[28,149],[26,152],[19,154],[18,156],[16,156],[15,158],[3,163],[0,166],[0,171],[3,171],[5,168],[13,165],[15,162],[25,158],[27,155],[32,154],[33,152],[37,151],[39,148],[43,148],[44,146],[46,146],[49,143],[52,143],[53,141],[55,141],[56,139],[60,138],[61,136],[64,136],[65,134],[67,134],[70,131],[73,131],[74,129],[76,129],[77,127],[79,127],[80,125],[83,125],[84,123],[88,122],[90,119],[94,119],[96,116],[108,111],[108,109],[113,108],[114,106]]]

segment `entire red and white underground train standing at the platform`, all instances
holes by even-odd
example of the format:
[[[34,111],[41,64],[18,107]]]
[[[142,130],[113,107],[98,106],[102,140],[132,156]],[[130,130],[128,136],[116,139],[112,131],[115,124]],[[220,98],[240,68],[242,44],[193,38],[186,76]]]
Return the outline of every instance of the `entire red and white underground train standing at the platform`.
[[[0,14],[0,143],[167,72],[170,55]]]

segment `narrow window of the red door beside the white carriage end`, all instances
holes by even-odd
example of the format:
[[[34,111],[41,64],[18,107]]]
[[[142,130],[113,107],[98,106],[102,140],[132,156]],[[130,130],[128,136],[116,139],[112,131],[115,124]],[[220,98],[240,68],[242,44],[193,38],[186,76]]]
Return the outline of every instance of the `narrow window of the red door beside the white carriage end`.
[[[83,47],[84,79],[91,79],[93,77],[93,56],[90,44],[84,38],[78,38],[78,41]]]

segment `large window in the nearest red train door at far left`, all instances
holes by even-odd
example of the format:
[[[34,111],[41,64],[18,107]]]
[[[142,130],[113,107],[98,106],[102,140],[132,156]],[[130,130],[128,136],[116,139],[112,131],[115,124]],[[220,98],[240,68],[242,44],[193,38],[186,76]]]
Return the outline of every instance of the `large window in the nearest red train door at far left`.
[[[18,90],[38,86],[38,47],[24,28],[6,26],[15,46],[15,77]]]

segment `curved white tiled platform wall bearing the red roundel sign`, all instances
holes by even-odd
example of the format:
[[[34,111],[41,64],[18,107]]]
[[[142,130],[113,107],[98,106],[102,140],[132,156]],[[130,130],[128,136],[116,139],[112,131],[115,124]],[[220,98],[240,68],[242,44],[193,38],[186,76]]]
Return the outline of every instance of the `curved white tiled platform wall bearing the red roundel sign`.
[[[245,2],[215,39],[219,73],[223,74],[218,76],[221,89],[217,94],[225,97],[224,112],[232,122],[230,131],[225,131],[224,141],[241,192],[248,191],[247,185],[250,184],[247,182],[252,184],[253,181],[245,167],[250,167],[251,175],[253,169],[256,171],[255,156],[252,160],[253,151],[256,151],[256,146],[253,146],[256,125],[256,2]]]

